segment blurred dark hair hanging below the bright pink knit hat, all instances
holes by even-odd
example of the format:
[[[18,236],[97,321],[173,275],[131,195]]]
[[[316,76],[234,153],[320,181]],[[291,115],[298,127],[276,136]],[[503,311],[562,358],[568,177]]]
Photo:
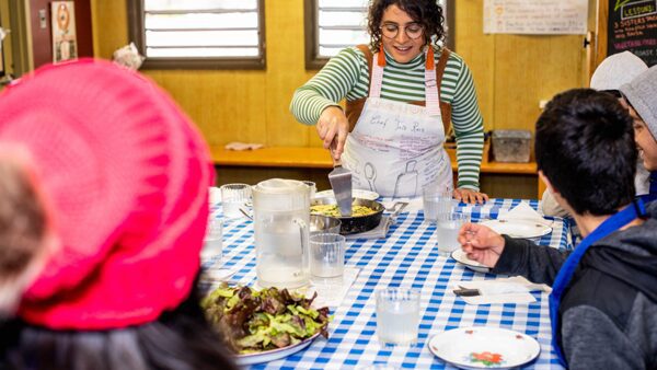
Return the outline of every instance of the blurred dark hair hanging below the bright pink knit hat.
[[[176,310],[139,326],[79,332],[11,322],[0,329],[3,370],[237,369],[205,319],[196,290]]]

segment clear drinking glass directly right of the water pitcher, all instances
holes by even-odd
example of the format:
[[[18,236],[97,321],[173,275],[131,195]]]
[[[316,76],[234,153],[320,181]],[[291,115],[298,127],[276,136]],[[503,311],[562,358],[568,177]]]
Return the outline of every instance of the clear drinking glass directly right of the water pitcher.
[[[310,236],[310,274],[313,277],[342,277],[344,267],[345,236],[334,233]]]

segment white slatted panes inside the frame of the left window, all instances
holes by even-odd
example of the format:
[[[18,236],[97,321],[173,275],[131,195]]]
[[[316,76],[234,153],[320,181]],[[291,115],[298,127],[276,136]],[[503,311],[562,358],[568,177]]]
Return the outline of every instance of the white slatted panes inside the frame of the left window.
[[[143,0],[147,58],[262,57],[257,0]]]

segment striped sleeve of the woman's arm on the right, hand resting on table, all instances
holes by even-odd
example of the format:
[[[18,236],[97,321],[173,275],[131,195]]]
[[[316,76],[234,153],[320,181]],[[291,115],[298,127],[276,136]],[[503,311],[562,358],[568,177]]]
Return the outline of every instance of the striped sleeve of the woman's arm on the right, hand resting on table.
[[[457,136],[457,162],[459,164],[457,186],[479,192],[484,149],[484,120],[479,108],[472,73],[460,57],[458,60],[461,68],[456,79],[451,102],[452,125]],[[448,70],[446,69],[447,73]],[[445,82],[449,82],[449,78]]]

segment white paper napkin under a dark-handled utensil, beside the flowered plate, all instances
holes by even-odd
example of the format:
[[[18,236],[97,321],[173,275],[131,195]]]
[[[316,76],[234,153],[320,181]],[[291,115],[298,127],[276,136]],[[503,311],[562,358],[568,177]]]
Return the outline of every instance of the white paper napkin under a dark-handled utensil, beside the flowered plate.
[[[544,284],[533,284],[521,276],[495,280],[459,281],[451,290],[476,289],[479,296],[461,298],[468,304],[496,304],[496,303],[531,303],[535,298],[531,291],[551,292],[552,288]]]

